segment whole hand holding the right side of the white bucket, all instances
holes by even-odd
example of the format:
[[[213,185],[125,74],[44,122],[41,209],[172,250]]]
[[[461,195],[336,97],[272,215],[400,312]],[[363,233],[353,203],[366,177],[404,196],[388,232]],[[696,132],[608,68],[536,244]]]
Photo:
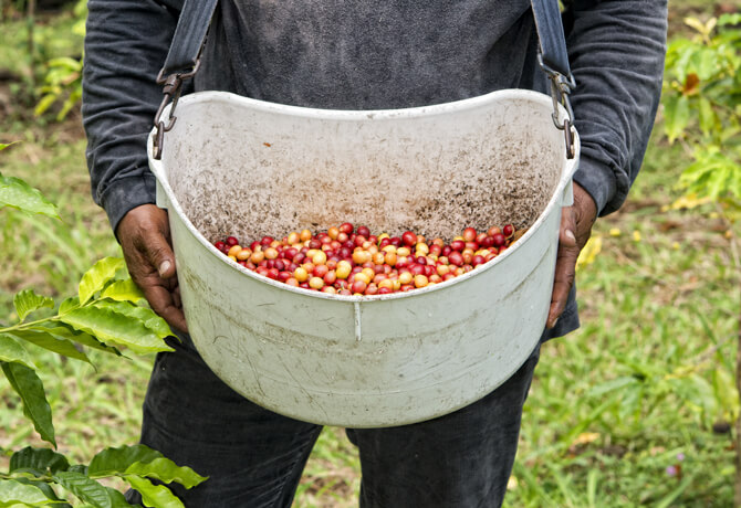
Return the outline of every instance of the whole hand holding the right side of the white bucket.
[[[589,240],[592,225],[596,219],[597,205],[594,200],[583,187],[574,182],[574,204],[561,210],[559,253],[546,328],[553,328],[566,308],[568,292],[574,285],[576,258]]]

